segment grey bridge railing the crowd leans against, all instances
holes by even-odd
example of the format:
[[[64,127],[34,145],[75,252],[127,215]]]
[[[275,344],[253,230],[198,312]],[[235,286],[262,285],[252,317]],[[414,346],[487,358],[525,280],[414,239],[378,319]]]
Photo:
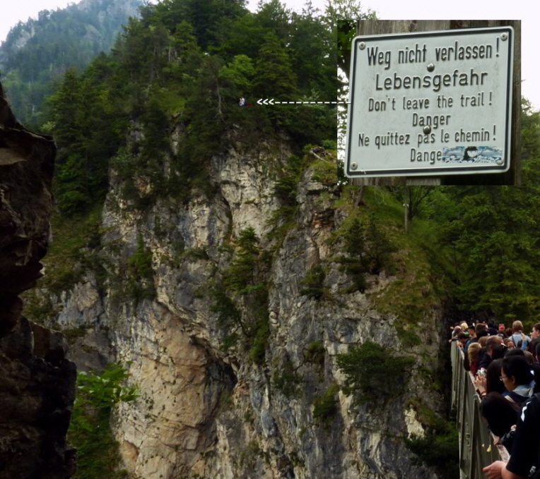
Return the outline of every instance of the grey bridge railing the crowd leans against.
[[[485,479],[482,468],[493,461],[507,461],[502,446],[493,445],[493,436],[480,416],[480,397],[474,376],[464,368],[463,351],[452,342],[452,411],[459,430],[459,469],[462,479]]]

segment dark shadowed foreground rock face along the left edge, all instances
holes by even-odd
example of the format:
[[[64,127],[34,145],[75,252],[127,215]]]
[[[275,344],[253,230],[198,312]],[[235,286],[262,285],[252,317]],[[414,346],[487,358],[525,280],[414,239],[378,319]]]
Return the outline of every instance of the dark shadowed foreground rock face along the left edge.
[[[61,334],[21,315],[47,251],[52,138],[18,123],[0,85],[0,478],[69,478],[75,365]]]

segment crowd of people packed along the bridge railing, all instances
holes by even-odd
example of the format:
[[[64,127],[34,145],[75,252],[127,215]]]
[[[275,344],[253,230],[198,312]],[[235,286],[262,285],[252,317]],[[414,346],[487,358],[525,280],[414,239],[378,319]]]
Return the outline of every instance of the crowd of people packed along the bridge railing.
[[[525,334],[522,322],[505,325],[462,323],[452,339],[474,376],[480,413],[495,444],[510,460],[483,468],[488,479],[540,479],[540,322]]]

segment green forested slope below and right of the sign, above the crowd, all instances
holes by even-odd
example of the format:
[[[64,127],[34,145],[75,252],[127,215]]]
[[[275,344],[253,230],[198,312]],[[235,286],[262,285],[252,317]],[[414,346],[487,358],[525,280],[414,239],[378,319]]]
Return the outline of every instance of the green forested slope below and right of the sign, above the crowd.
[[[433,188],[420,216],[450,260],[452,301],[510,324],[540,319],[540,113],[522,102],[523,186]]]

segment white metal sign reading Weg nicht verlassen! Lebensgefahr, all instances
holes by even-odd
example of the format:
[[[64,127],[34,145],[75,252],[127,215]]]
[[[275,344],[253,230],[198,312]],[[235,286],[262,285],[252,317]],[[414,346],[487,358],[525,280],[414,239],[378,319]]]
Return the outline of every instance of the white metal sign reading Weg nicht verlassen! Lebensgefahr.
[[[511,27],[356,37],[346,175],[507,171],[513,43]]]

